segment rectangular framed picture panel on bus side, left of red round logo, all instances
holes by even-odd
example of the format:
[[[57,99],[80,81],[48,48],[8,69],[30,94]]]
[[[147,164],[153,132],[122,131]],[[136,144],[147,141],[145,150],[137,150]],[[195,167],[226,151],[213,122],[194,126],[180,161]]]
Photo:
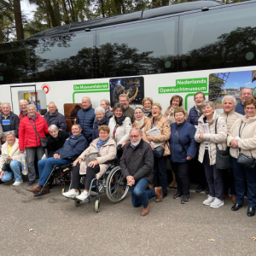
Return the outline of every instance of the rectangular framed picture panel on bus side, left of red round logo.
[[[26,100],[29,104],[34,104],[38,108],[38,93],[36,84],[11,85],[11,104],[13,112],[20,113],[20,100]],[[40,109],[38,109],[39,111]]]

